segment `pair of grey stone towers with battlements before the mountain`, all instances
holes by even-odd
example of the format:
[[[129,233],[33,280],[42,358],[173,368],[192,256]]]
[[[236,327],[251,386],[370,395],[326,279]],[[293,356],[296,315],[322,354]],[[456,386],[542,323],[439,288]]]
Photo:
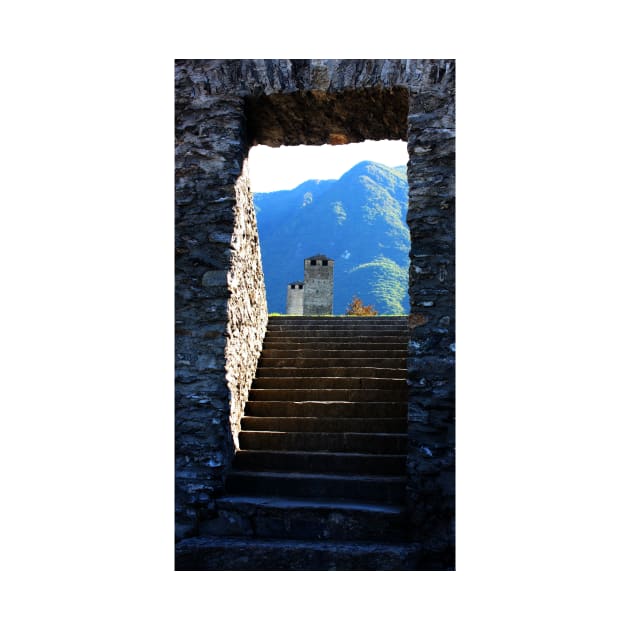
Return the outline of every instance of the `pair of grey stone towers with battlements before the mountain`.
[[[287,315],[332,315],[334,266],[324,254],[304,259],[304,281],[287,287]]]

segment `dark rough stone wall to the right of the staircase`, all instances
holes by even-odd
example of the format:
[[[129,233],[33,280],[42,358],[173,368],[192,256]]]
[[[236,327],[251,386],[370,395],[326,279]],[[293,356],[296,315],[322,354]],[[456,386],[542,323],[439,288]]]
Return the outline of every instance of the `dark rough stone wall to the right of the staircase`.
[[[454,564],[455,68],[410,90],[408,499],[418,537]]]

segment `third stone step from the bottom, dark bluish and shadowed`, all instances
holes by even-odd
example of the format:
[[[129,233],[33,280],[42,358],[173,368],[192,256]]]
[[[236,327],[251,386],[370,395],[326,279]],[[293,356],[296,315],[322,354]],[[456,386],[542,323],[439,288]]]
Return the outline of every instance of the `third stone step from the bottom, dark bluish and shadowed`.
[[[402,504],[405,476],[249,472],[234,470],[227,477],[230,495],[318,497]]]

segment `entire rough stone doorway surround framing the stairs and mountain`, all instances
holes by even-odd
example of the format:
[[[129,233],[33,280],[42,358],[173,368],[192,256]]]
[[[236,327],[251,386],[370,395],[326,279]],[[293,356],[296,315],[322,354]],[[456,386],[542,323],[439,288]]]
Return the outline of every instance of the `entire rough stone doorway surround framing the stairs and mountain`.
[[[250,368],[237,376],[226,345],[247,345],[249,363],[265,321],[262,280],[244,283],[238,270],[257,247],[253,223],[249,236],[239,227],[249,147],[402,138],[411,232],[407,499],[418,540],[452,566],[454,61],[178,60],[175,103],[178,535],[193,535],[215,509],[234,451],[231,423]],[[249,306],[237,312],[237,304]]]

